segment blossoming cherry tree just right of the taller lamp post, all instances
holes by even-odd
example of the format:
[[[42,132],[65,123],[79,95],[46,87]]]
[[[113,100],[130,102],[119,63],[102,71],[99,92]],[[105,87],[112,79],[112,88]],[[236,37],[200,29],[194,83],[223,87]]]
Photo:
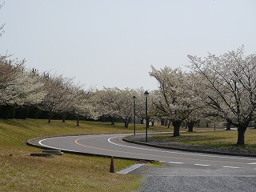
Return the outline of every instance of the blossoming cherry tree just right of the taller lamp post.
[[[174,137],[179,136],[182,122],[194,110],[193,98],[186,86],[186,74],[181,69],[164,67],[156,70],[151,66],[150,76],[159,83],[158,100],[154,105],[159,110],[159,115],[166,116],[174,126]]]

